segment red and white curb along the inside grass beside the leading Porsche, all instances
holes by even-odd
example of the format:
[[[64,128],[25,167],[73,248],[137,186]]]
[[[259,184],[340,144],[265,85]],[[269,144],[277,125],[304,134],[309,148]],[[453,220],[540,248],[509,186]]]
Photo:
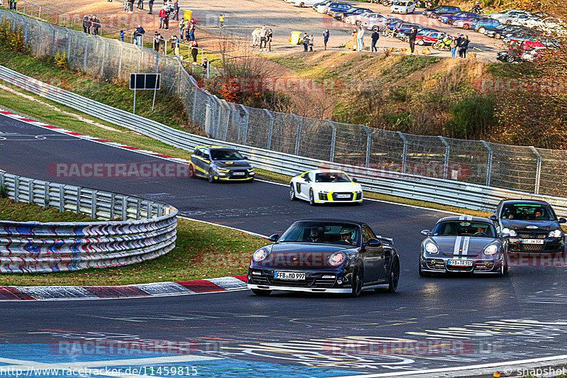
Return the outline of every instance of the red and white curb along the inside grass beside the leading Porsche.
[[[246,275],[121,286],[0,287],[0,301],[54,301],[172,296],[246,289]]]

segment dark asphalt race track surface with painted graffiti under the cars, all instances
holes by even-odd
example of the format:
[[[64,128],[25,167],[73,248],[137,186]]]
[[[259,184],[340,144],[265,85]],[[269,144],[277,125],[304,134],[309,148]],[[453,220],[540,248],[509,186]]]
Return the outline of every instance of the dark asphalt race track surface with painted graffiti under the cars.
[[[152,299],[5,302],[0,309],[9,321],[0,325],[0,367],[15,363],[3,360],[12,358],[23,366],[94,366],[108,360],[124,368],[130,366],[128,359],[140,358],[134,352],[108,350],[116,340],[127,340],[130,350],[134,344],[176,345],[150,350],[147,360],[132,365],[156,369],[174,360],[178,367],[195,367],[198,377],[336,377],[520,360],[567,350],[564,266],[511,267],[503,278],[418,277],[420,230],[447,213],[377,201],[313,207],[289,201],[286,186],[267,182],[52,174],[53,163],[74,162],[164,160],[0,116],[0,169],[7,172],[145,196],[176,206],[183,216],[262,235],[281,233],[301,218],[367,221],[376,233],[395,240],[402,266],[398,292],[365,292],[358,299],[288,293],[264,298],[244,290]],[[106,350],[69,352],[61,348],[69,341],[79,347],[101,343]],[[186,343],[190,353],[180,351]]]

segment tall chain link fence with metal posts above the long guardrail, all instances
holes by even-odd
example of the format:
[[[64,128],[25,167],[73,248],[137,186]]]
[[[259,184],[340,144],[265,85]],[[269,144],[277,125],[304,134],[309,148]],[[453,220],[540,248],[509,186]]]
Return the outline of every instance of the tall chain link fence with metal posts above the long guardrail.
[[[218,140],[383,174],[403,172],[551,196],[567,191],[563,150],[411,135],[231,104],[198,87],[177,57],[9,11],[0,10],[0,17],[21,28],[33,55],[66,52],[74,70],[119,80],[131,72],[161,73],[162,87],[184,101],[189,120]]]

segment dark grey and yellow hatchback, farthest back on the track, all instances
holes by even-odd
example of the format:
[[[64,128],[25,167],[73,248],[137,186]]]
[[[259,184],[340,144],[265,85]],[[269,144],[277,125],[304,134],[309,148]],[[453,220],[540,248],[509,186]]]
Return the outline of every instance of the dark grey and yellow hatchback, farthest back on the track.
[[[208,182],[252,181],[254,167],[247,157],[234,148],[202,145],[195,149],[189,162],[190,177],[205,177]]]

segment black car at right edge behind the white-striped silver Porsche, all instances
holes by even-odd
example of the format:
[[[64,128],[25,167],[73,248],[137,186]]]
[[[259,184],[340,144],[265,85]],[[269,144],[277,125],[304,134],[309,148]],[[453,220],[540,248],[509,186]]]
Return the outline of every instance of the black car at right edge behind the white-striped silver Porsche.
[[[510,252],[563,252],[565,234],[546,201],[504,199],[490,216],[498,232],[510,235]]]

